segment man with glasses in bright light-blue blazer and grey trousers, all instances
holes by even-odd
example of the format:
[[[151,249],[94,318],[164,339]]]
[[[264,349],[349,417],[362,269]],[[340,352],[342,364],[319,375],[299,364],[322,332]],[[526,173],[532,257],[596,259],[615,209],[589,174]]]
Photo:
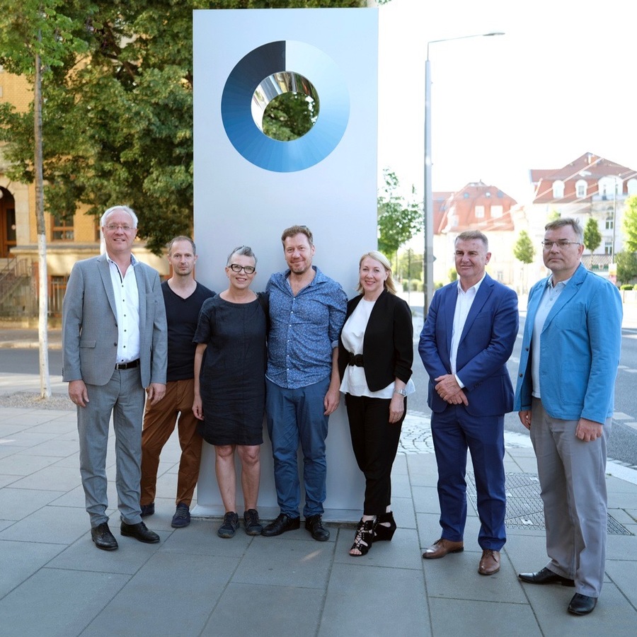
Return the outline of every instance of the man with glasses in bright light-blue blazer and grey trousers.
[[[606,444],[621,348],[621,298],[580,263],[582,227],[563,217],[545,226],[551,275],[529,292],[515,410],[531,431],[544,501],[546,552],[532,584],[575,586],[568,612],[595,608],[604,581]]]

